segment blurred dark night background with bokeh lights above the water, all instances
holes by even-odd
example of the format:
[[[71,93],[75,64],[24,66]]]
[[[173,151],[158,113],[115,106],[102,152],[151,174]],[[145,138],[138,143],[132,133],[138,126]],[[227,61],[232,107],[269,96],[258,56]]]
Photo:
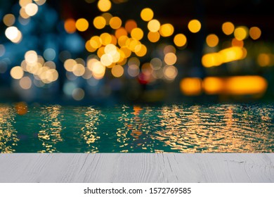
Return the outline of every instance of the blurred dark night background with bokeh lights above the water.
[[[0,0],[0,103],[271,102],[263,0]]]

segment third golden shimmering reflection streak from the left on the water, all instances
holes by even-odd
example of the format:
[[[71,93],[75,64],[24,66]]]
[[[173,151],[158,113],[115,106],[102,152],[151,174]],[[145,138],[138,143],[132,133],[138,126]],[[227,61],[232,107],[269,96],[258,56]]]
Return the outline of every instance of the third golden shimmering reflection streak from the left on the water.
[[[100,110],[96,110],[94,108],[89,107],[85,113],[87,117],[84,120],[85,125],[81,128],[82,131],[82,138],[89,145],[89,150],[86,153],[96,153],[98,152],[98,146],[95,143],[100,136],[98,136],[98,125],[99,125],[99,115]]]

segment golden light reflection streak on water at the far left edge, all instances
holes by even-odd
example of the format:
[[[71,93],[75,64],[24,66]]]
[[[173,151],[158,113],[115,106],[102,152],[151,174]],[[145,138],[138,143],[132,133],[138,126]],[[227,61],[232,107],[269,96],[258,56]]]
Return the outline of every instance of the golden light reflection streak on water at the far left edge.
[[[13,127],[14,122],[14,109],[0,105],[0,153],[13,153],[18,145],[19,139]]]

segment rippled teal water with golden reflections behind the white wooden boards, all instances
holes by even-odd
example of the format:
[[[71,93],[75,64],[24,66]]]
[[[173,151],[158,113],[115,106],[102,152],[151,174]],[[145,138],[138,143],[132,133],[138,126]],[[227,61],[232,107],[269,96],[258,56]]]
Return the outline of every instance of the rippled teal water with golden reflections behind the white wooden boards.
[[[273,105],[0,106],[1,153],[272,153]]]

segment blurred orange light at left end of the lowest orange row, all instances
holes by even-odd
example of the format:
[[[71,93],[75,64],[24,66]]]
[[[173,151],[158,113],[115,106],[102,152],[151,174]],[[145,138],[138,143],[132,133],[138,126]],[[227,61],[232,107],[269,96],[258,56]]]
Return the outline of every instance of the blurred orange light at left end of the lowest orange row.
[[[200,78],[184,78],[180,82],[180,89],[187,96],[202,94],[202,80]]]

